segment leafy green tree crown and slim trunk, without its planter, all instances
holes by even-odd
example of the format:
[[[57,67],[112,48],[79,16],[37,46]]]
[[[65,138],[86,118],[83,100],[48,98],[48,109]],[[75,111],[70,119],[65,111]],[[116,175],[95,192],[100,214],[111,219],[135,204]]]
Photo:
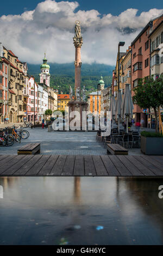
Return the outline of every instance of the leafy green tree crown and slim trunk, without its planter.
[[[139,80],[134,88],[133,101],[141,108],[153,108],[155,114],[155,130],[158,132],[158,108],[163,106],[163,76],[154,80],[148,76]]]

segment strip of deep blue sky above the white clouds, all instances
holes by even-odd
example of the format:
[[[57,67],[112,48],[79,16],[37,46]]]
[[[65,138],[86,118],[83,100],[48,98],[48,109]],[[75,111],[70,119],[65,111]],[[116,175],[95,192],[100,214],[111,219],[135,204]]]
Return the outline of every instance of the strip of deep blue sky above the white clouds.
[[[65,0],[64,0],[65,1]],[[0,16],[8,14],[21,14],[24,10],[33,10],[35,9],[38,3],[42,2],[41,0],[6,0],[1,3]],[[56,2],[60,2],[57,0]],[[74,2],[69,0],[69,2]],[[128,8],[138,9],[139,14],[141,11],[148,11],[149,9],[157,8],[161,9],[163,4],[162,0],[77,0],[80,4],[80,7],[77,8],[80,10],[91,10],[96,9],[101,14],[111,13],[112,15],[118,15],[122,11]]]

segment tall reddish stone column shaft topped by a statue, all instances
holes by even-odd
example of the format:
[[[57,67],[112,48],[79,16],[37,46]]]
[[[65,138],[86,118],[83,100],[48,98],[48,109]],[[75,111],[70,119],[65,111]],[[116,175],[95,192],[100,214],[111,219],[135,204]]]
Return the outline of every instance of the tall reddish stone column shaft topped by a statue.
[[[74,46],[76,47],[76,56],[75,56],[75,61],[74,61],[74,66],[75,66],[75,91],[76,89],[79,89],[79,94],[81,95],[81,66],[82,66],[82,61],[81,61],[81,47],[83,44],[83,38],[81,34],[81,28],[80,28],[80,22],[76,21],[76,26],[75,26],[75,36],[73,38],[73,43]],[[77,96],[76,96],[77,100]]]

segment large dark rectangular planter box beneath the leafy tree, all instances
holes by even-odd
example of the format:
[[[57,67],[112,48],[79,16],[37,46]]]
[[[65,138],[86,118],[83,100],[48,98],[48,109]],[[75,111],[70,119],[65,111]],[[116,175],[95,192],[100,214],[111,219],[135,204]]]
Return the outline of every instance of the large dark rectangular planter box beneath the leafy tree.
[[[140,145],[146,155],[163,155],[163,138],[141,136]]]

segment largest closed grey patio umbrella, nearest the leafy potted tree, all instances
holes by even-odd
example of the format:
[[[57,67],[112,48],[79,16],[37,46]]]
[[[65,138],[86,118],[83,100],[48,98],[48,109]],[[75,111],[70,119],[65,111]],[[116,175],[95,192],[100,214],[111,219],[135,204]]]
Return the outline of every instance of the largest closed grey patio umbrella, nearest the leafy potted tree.
[[[126,84],[123,102],[122,102],[122,118],[126,119],[126,130],[128,132],[128,121],[133,118],[133,100],[129,89],[129,84]]]

